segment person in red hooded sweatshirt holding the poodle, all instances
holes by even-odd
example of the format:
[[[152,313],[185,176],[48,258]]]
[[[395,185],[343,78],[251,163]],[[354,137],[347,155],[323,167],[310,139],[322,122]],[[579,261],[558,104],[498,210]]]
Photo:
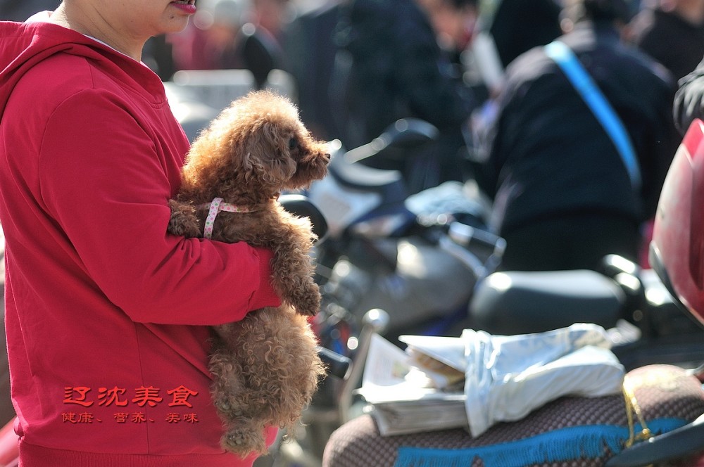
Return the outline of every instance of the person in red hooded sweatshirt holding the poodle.
[[[149,37],[195,11],[194,0],[63,0],[0,23],[20,466],[253,463],[219,445],[208,326],[280,304],[272,253],[167,233],[189,143],[140,62]]]

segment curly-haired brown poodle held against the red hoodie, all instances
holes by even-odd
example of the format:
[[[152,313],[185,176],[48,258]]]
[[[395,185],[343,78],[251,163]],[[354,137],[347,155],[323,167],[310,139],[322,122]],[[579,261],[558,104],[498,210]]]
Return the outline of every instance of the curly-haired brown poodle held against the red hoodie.
[[[266,452],[264,428],[292,428],[325,373],[307,316],[320,309],[308,254],[308,219],[277,202],[283,190],[308,186],[327,173],[329,153],[315,141],[286,98],[256,91],[239,98],[194,141],[182,187],[170,200],[169,231],[203,236],[213,198],[250,212],[220,212],[213,240],[270,248],[278,308],[213,326],[213,402],[225,426],[222,447],[244,457]]]

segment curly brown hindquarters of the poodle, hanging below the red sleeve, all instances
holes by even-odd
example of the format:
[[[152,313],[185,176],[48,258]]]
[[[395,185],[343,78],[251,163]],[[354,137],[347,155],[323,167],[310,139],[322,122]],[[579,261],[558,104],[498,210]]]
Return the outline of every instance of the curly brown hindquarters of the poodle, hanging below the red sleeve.
[[[264,428],[292,428],[325,374],[315,335],[289,307],[260,309],[218,332],[227,333],[229,349],[211,358],[222,445],[237,454],[265,452]]]

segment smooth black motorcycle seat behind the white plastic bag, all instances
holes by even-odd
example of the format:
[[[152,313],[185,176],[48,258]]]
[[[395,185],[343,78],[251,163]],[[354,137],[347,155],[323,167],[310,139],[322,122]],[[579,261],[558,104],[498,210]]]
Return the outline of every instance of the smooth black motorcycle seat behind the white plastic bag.
[[[477,284],[469,312],[476,328],[515,335],[574,323],[610,328],[625,301],[620,286],[596,271],[505,271]]]

